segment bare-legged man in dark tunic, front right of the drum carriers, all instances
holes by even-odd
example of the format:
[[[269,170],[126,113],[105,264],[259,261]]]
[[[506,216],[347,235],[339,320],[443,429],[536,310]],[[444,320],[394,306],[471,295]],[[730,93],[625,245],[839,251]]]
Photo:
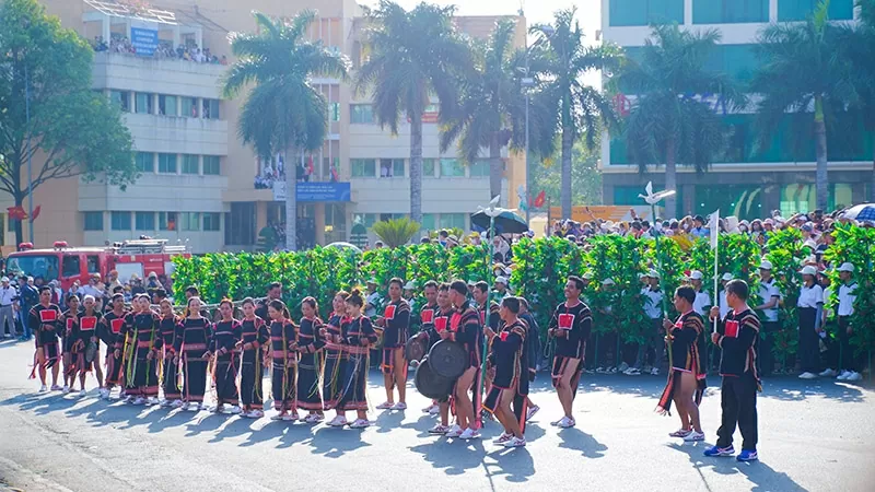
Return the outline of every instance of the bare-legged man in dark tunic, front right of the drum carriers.
[[[483,328],[492,347],[491,356],[495,367],[495,378],[483,408],[493,413],[504,426],[504,432],[494,441],[504,447],[526,445],[523,433],[526,424],[525,402],[528,397],[528,362],[525,358],[528,327],[520,320],[518,313],[520,300],[505,297],[499,311],[503,321],[500,333],[489,327]]]

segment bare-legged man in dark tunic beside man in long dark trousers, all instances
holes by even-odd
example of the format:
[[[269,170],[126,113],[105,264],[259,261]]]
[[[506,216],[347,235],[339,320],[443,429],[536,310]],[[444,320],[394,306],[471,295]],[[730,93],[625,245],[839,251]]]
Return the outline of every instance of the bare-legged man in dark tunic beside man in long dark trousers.
[[[656,411],[667,414],[674,401],[680,418],[680,429],[668,434],[684,441],[703,441],[704,433],[699,421],[699,405],[704,393],[705,371],[699,359],[697,339],[702,336],[704,320],[692,311],[696,292],[692,288],[680,286],[675,291],[675,311],[680,313],[677,321],[663,319],[666,341],[670,340],[672,367],[668,368],[668,383],[665,385]]]

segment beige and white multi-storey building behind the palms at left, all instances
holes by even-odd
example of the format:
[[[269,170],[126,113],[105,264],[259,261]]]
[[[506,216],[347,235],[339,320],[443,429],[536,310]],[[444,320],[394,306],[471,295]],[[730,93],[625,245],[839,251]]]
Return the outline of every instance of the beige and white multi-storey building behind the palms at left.
[[[313,81],[329,103],[320,151],[267,162],[237,137],[245,94],[222,97],[222,78],[233,62],[229,35],[256,30],[253,10],[281,17],[316,10],[307,36],[346,55],[354,78],[368,50],[364,11],[353,0],[163,0],[150,2],[159,14],[141,15],[148,19],[119,11],[112,0],[42,3],[65,27],[103,43],[94,57],[93,87],[121,107],[141,175],[125,190],[80,179],[43,185],[34,195],[42,208],[33,224],[37,246],[59,239],[102,245],[145,234],[186,243],[195,253],[255,249],[266,227],[282,230],[285,172],[299,176],[301,246],[349,241],[354,224],[370,234],[375,221],[409,214],[409,125],[402,120],[397,136],[382,129],[368,95],[354,94],[350,81]],[[515,44],[524,46],[525,19],[514,19]],[[457,17],[456,23],[483,38],[498,20]],[[436,104],[435,98],[424,118],[422,227],[466,230],[469,214],[490,199],[488,163],[463,165],[454,149],[440,152]],[[504,162],[502,195],[516,207],[512,190],[525,183],[525,157],[505,152]],[[12,206],[8,197],[0,197],[3,201],[10,202],[0,203],[3,208]],[[2,239],[14,245],[11,232]]]

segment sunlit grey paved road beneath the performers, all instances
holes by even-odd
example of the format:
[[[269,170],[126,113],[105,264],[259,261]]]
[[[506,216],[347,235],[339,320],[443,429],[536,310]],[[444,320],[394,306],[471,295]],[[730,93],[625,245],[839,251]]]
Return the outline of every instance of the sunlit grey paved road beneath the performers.
[[[585,376],[578,427],[558,431],[544,382],[526,448],[429,436],[433,418],[410,389],[406,413],[373,413],[364,431],[243,420],[37,395],[30,344],[0,343],[0,491],[871,491],[875,394],[833,382],[780,379],[759,400],[762,461],[704,458],[653,413],[662,377]],[[372,384],[381,380],[372,374]],[[93,380],[89,382],[92,386]],[[712,380],[716,385],[716,380]],[[374,400],[382,389],[372,386]],[[720,397],[702,405],[708,443]],[[495,425],[485,434],[493,437]],[[736,437],[740,438],[740,437]]]

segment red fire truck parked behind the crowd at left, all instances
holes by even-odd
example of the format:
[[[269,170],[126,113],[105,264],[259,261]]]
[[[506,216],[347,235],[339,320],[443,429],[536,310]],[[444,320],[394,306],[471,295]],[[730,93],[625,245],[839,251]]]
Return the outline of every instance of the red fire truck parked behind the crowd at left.
[[[184,245],[170,245],[167,239],[149,237],[105,247],[70,247],[67,242],[58,241],[51,249],[34,249],[33,244],[22,243],[19,250],[7,258],[7,270],[42,277],[46,282],[58,280],[61,289],[67,290],[77,280],[86,285],[95,273],[106,279],[113,270],[118,272],[118,280],[122,283],[132,274],[140,279],[152,272],[171,276],[174,269],[171,258],[179,255],[191,256]]]

